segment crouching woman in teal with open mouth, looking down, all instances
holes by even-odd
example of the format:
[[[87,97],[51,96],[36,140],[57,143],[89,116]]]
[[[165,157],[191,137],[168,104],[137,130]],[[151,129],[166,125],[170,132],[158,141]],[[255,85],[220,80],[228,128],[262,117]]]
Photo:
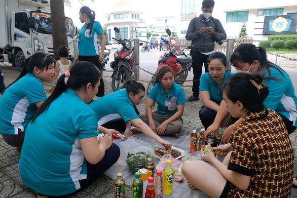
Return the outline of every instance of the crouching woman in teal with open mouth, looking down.
[[[203,106],[199,111],[199,118],[202,125],[207,129],[214,121],[219,104],[222,101],[220,86],[225,83],[232,75],[227,69],[227,59],[225,54],[215,52],[208,58],[208,70],[200,78],[200,96]],[[220,126],[227,127],[232,116],[229,116],[221,123]]]

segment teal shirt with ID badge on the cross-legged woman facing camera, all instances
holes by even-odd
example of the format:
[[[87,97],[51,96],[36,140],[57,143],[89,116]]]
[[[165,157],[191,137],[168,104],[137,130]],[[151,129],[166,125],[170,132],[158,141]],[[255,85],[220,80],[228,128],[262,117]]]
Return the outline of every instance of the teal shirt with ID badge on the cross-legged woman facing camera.
[[[158,104],[157,113],[174,114],[177,111],[177,105],[185,104],[185,93],[178,84],[173,83],[169,93],[166,94],[161,83],[157,83],[151,90],[149,98]]]

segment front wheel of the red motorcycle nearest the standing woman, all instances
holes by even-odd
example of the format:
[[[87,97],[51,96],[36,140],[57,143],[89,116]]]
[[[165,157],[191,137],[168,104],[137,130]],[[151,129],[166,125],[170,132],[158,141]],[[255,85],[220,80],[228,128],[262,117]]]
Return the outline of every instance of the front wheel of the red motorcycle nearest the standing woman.
[[[118,75],[117,75],[118,73]],[[119,72],[118,70],[116,69],[114,71],[114,74],[113,74],[113,79],[112,79],[112,89],[114,91],[117,91],[119,89],[122,89],[123,88],[123,85],[126,83],[126,81],[128,81],[130,79],[130,72],[128,71],[127,68],[125,67],[121,67],[119,69]]]

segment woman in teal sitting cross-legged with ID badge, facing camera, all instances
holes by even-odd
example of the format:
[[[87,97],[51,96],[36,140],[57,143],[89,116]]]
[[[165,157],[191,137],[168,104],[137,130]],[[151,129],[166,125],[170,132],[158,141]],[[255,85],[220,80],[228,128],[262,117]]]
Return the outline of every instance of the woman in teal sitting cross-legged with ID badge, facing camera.
[[[174,83],[174,72],[171,67],[163,66],[159,69],[157,83],[149,94],[146,103],[146,114],[139,115],[158,135],[174,135],[179,137],[182,127],[182,114],[185,104],[185,93],[179,85]],[[158,108],[153,112],[157,102]],[[135,131],[138,129],[136,128]]]

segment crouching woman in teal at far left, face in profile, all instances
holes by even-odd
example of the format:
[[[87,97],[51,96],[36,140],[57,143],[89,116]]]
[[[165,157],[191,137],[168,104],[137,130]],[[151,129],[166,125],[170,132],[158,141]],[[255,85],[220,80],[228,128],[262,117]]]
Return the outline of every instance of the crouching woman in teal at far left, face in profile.
[[[27,58],[17,79],[0,98],[0,133],[6,143],[21,147],[25,127],[37,108],[47,99],[42,82],[55,78],[55,60],[44,53]]]

